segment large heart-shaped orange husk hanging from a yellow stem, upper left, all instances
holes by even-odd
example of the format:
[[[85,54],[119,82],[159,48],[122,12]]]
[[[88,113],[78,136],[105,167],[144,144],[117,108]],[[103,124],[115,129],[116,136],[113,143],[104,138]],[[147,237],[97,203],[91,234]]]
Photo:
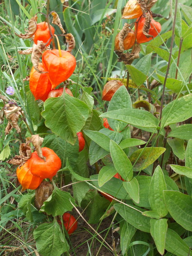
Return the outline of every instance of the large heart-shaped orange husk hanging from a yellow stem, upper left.
[[[52,89],[71,77],[76,68],[76,58],[63,50],[61,50],[61,57],[59,57],[58,49],[45,51],[42,54],[42,63],[45,71],[49,72]]]

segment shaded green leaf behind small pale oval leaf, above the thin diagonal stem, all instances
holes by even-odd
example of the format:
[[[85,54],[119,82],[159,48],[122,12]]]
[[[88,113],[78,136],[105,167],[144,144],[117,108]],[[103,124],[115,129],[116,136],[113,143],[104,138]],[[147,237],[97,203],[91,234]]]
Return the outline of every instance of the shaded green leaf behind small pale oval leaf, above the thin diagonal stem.
[[[91,181],[87,182],[89,184],[93,184],[94,188],[97,188],[105,193],[108,193],[109,195],[112,195],[113,197],[116,197],[118,199],[130,199],[129,195],[127,194],[127,191],[123,187],[123,181],[113,177],[109,181],[107,181],[102,187],[99,187],[98,185],[98,175],[92,175]]]

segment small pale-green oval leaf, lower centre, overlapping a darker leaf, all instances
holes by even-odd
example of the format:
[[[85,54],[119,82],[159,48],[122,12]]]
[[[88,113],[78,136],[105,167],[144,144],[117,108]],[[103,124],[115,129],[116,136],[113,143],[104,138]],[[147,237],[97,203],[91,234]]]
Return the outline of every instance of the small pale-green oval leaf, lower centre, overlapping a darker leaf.
[[[107,181],[109,181],[117,173],[115,167],[113,166],[103,166],[98,174],[98,185],[103,186]]]

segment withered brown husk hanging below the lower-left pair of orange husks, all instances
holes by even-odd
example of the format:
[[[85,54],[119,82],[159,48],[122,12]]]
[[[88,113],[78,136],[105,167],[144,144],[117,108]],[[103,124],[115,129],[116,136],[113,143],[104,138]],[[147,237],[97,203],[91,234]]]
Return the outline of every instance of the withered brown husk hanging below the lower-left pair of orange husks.
[[[43,205],[44,201],[47,200],[48,197],[51,196],[54,187],[51,183],[47,181],[42,181],[41,184],[36,189],[36,195],[34,204],[35,207],[39,210]]]

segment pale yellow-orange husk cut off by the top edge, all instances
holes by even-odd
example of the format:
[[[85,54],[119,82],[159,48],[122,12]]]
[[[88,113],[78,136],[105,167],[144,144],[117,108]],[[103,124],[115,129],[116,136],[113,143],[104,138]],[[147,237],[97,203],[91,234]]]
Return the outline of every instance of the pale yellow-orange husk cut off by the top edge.
[[[137,0],[129,0],[123,11],[122,19],[135,19],[143,14],[140,4]]]

